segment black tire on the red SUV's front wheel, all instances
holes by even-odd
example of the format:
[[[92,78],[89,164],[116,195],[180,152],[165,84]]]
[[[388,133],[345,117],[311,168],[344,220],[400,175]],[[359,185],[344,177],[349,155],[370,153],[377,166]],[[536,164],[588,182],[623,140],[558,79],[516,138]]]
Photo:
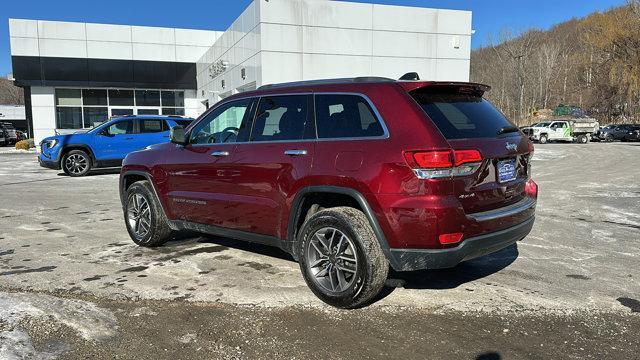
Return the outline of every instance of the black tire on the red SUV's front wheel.
[[[140,197],[148,205],[149,218],[145,220],[148,222],[146,225],[136,213],[135,206],[132,203],[133,201],[138,201],[138,204],[140,204]],[[129,232],[129,236],[134,243],[145,247],[156,247],[171,238],[172,231],[169,227],[169,222],[148,181],[138,181],[129,186],[125,199],[124,222],[127,226],[127,232]],[[134,220],[136,217],[138,217],[137,222]],[[140,231],[140,229],[143,229],[143,225],[147,228],[146,232]],[[140,228],[137,228],[137,226],[140,226]]]

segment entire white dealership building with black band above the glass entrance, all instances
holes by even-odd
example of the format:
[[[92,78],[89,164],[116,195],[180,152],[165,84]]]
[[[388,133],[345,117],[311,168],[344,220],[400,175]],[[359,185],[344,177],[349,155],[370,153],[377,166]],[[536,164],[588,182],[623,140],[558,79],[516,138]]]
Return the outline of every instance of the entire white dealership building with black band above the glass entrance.
[[[9,19],[36,142],[112,116],[196,117],[265,84],[354,76],[468,81],[471,12],[254,0],[226,31]]]

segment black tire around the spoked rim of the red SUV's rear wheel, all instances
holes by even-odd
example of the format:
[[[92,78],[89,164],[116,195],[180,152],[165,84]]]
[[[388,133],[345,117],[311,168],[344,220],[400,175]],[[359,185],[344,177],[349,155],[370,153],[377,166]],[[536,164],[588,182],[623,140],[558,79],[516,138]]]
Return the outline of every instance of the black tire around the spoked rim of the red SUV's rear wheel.
[[[352,269],[355,271],[350,273],[348,281],[345,280],[346,277],[342,277],[344,289],[339,289],[338,291],[331,291],[320,283],[321,280],[327,281],[329,275],[319,278],[313,274],[313,269],[320,269],[318,271],[318,274],[320,274],[330,268],[329,265],[325,264],[327,267],[314,267],[310,263],[312,261],[310,259],[312,257],[311,252],[314,251],[311,248],[313,245],[311,244],[312,239],[317,243],[316,233],[325,229],[336,229],[339,233],[345,235],[345,241],[348,241],[347,248],[353,249],[355,252],[353,254],[354,259],[357,259],[355,265],[352,265]],[[329,240],[328,244],[329,248],[331,248],[331,240]],[[389,263],[380,248],[378,239],[367,217],[357,209],[335,207],[313,214],[302,225],[297,245],[300,270],[304,280],[320,300],[331,306],[353,309],[368,305],[384,287],[389,273]],[[335,247],[333,250],[335,250]],[[333,250],[330,251],[333,255],[333,261],[340,262],[341,260],[335,260],[337,258],[335,255],[338,254],[339,249],[336,254],[333,254]],[[329,260],[327,260],[327,263],[329,263]],[[343,261],[341,264],[345,266],[346,262]],[[333,270],[336,270],[336,268],[340,268],[340,265],[334,266]],[[331,272],[331,270],[328,272]],[[346,272],[343,273],[347,274]],[[334,278],[338,276],[337,272],[335,274]],[[344,283],[344,281],[347,283]]]

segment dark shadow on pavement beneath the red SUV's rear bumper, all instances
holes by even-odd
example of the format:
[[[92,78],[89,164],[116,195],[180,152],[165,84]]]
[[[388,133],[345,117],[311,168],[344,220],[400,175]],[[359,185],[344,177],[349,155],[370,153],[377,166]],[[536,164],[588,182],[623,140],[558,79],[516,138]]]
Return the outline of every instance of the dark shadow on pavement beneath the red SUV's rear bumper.
[[[513,244],[493,254],[465,261],[455,268],[395,272],[389,274],[390,283],[406,289],[453,289],[470,281],[494,274],[518,258],[518,245]]]

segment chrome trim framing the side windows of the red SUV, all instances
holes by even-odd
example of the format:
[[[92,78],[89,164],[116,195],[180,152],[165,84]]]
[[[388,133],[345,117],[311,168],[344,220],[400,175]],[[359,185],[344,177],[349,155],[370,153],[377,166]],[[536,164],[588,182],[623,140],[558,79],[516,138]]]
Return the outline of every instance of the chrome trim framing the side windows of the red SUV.
[[[229,146],[229,145],[245,145],[245,144],[277,144],[277,143],[298,143],[298,142],[312,142],[312,141],[316,141],[316,142],[325,142],[325,141],[362,141],[362,140],[386,140],[389,139],[391,137],[390,133],[389,133],[389,128],[387,127],[387,124],[384,121],[384,118],[382,117],[382,115],[380,114],[380,111],[378,111],[378,108],[373,104],[373,101],[371,101],[371,99],[363,94],[363,93],[358,93],[358,92],[340,92],[340,91],[321,91],[321,92],[291,92],[291,93],[277,93],[277,94],[264,94],[264,95],[254,95],[254,96],[246,96],[246,97],[239,97],[239,98],[234,98],[234,99],[230,99],[230,100],[222,100],[220,101],[218,104],[216,104],[216,106],[211,108],[211,111],[209,112],[213,112],[216,111],[217,108],[219,108],[220,106],[224,106],[225,104],[232,102],[232,101],[239,101],[239,100],[251,100],[251,99],[255,99],[258,102],[260,100],[262,100],[262,98],[264,97],[276,97],[276,96],[295,96],[295,95],[304,95],[304,96],[308,96],[311,95],[313,96],[313,102],[314,102],[314,113],[313,113],[313,121],[315,123],[316,119],[315,119],[315,96],[316,95],[353,95],[353,96],[359,96],[361,98],[363,98],[367,104],[369,105],[369,107],[371,108],[371,110],[373,110],[373,115],[376,117],[376,119],[380,122],[380,125],[382,126],[382,130],[383,133],[380,136],[366,136],[366,137],[344,137],[344,138],[318,138],[318,134],[317,134],[317,124],[316,124],[316,138],[315,139],[299,139],[299,140],[268,140],[268,141],[240,141],[240,142],[229,142],[229,143],[213,143],[213,144],[190,144],[189,146],[194,146],[194,147],[201,147],[201,146],[220,146],[220,145],[225,145],[225,146]],[[253,126],[253,121],[255,121],[255,116],[257,114],[254,114],[254,119],[252,119],[252,126]],[[204,116],[203,114],[203,119],[206,116]],[[196,126],[198,126],[197,123],[192,125],[192,128],[195,128]]]

